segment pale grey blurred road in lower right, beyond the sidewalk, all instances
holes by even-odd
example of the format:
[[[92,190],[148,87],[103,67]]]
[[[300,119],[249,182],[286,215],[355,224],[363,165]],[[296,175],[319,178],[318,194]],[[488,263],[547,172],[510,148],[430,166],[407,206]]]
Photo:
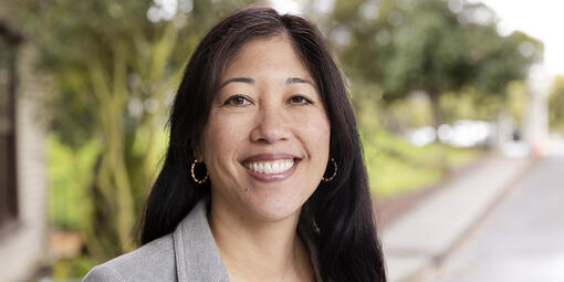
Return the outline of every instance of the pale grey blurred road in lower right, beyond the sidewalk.
[[[418,282],[564,282],[564,155],[537,160]]]

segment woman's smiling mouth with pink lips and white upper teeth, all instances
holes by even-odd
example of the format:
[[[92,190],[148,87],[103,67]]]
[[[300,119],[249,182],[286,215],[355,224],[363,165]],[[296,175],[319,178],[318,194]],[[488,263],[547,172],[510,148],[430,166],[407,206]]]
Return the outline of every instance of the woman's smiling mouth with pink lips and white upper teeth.
[[[262,154],[241,164],[253,178],[270,182],[290,177],[300,160],[301,158],[289,154]]]

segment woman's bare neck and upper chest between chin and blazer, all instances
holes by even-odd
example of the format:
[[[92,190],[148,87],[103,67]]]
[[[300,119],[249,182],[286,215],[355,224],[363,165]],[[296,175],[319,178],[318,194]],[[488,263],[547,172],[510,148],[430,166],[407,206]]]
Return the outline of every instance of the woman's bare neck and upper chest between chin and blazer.
[[[230,281],[313,281],[297,236],[300,211],[278,222],[249,220],[211,205],[209,223]]]

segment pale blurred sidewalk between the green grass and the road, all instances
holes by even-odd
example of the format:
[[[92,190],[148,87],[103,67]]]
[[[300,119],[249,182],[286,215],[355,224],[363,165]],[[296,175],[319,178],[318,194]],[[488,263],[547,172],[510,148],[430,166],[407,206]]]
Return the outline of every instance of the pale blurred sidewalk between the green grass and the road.
[[[409,281],[440,263],[532,161],[488,156],[390,222],[380,234],[388,281]]]

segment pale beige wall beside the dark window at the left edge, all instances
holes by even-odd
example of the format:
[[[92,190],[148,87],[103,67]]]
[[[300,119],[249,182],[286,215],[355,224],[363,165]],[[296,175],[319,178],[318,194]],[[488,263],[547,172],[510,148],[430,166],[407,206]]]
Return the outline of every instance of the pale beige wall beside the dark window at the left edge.
[[[4,1],[0,7],[4,8]],[[6,10],[4,10],[6,11]],[[6,18],[0,14],[0,19]],[[33,73],[33,49],[22,43],[19,49],[15,91],[17,184],[15,222],[0,230],[1,281],[24,281],[46,259],[46,182],[44,160],[44,126],[35,115],[34,97],[44,91]]]

